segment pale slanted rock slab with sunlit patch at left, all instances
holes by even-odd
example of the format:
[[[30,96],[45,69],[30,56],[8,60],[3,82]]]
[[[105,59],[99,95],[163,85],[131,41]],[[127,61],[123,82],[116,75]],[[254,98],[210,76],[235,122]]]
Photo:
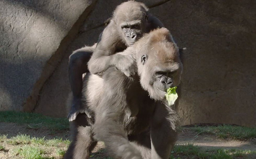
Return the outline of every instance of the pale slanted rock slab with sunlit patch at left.
[[[0,110],[31,111],[95,0],[0,1]]]

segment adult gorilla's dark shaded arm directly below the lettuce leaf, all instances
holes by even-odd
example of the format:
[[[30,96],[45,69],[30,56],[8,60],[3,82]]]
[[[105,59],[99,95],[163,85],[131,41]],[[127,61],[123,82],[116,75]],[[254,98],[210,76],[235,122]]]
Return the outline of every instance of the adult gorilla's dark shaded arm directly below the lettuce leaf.
[[[168,159],[177,139],[178,115],[170,107],[158,104],[150,126],[152,159]]]

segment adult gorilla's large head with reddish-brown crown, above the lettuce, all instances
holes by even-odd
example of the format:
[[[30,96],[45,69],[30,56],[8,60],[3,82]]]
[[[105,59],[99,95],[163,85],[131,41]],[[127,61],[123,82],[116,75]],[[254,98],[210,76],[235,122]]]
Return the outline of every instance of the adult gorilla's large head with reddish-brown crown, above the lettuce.
[[[166,28],[144,35],[135,45],[138,74],[151,98],[162,100],[169,87],[180,84],[179,49]]]

